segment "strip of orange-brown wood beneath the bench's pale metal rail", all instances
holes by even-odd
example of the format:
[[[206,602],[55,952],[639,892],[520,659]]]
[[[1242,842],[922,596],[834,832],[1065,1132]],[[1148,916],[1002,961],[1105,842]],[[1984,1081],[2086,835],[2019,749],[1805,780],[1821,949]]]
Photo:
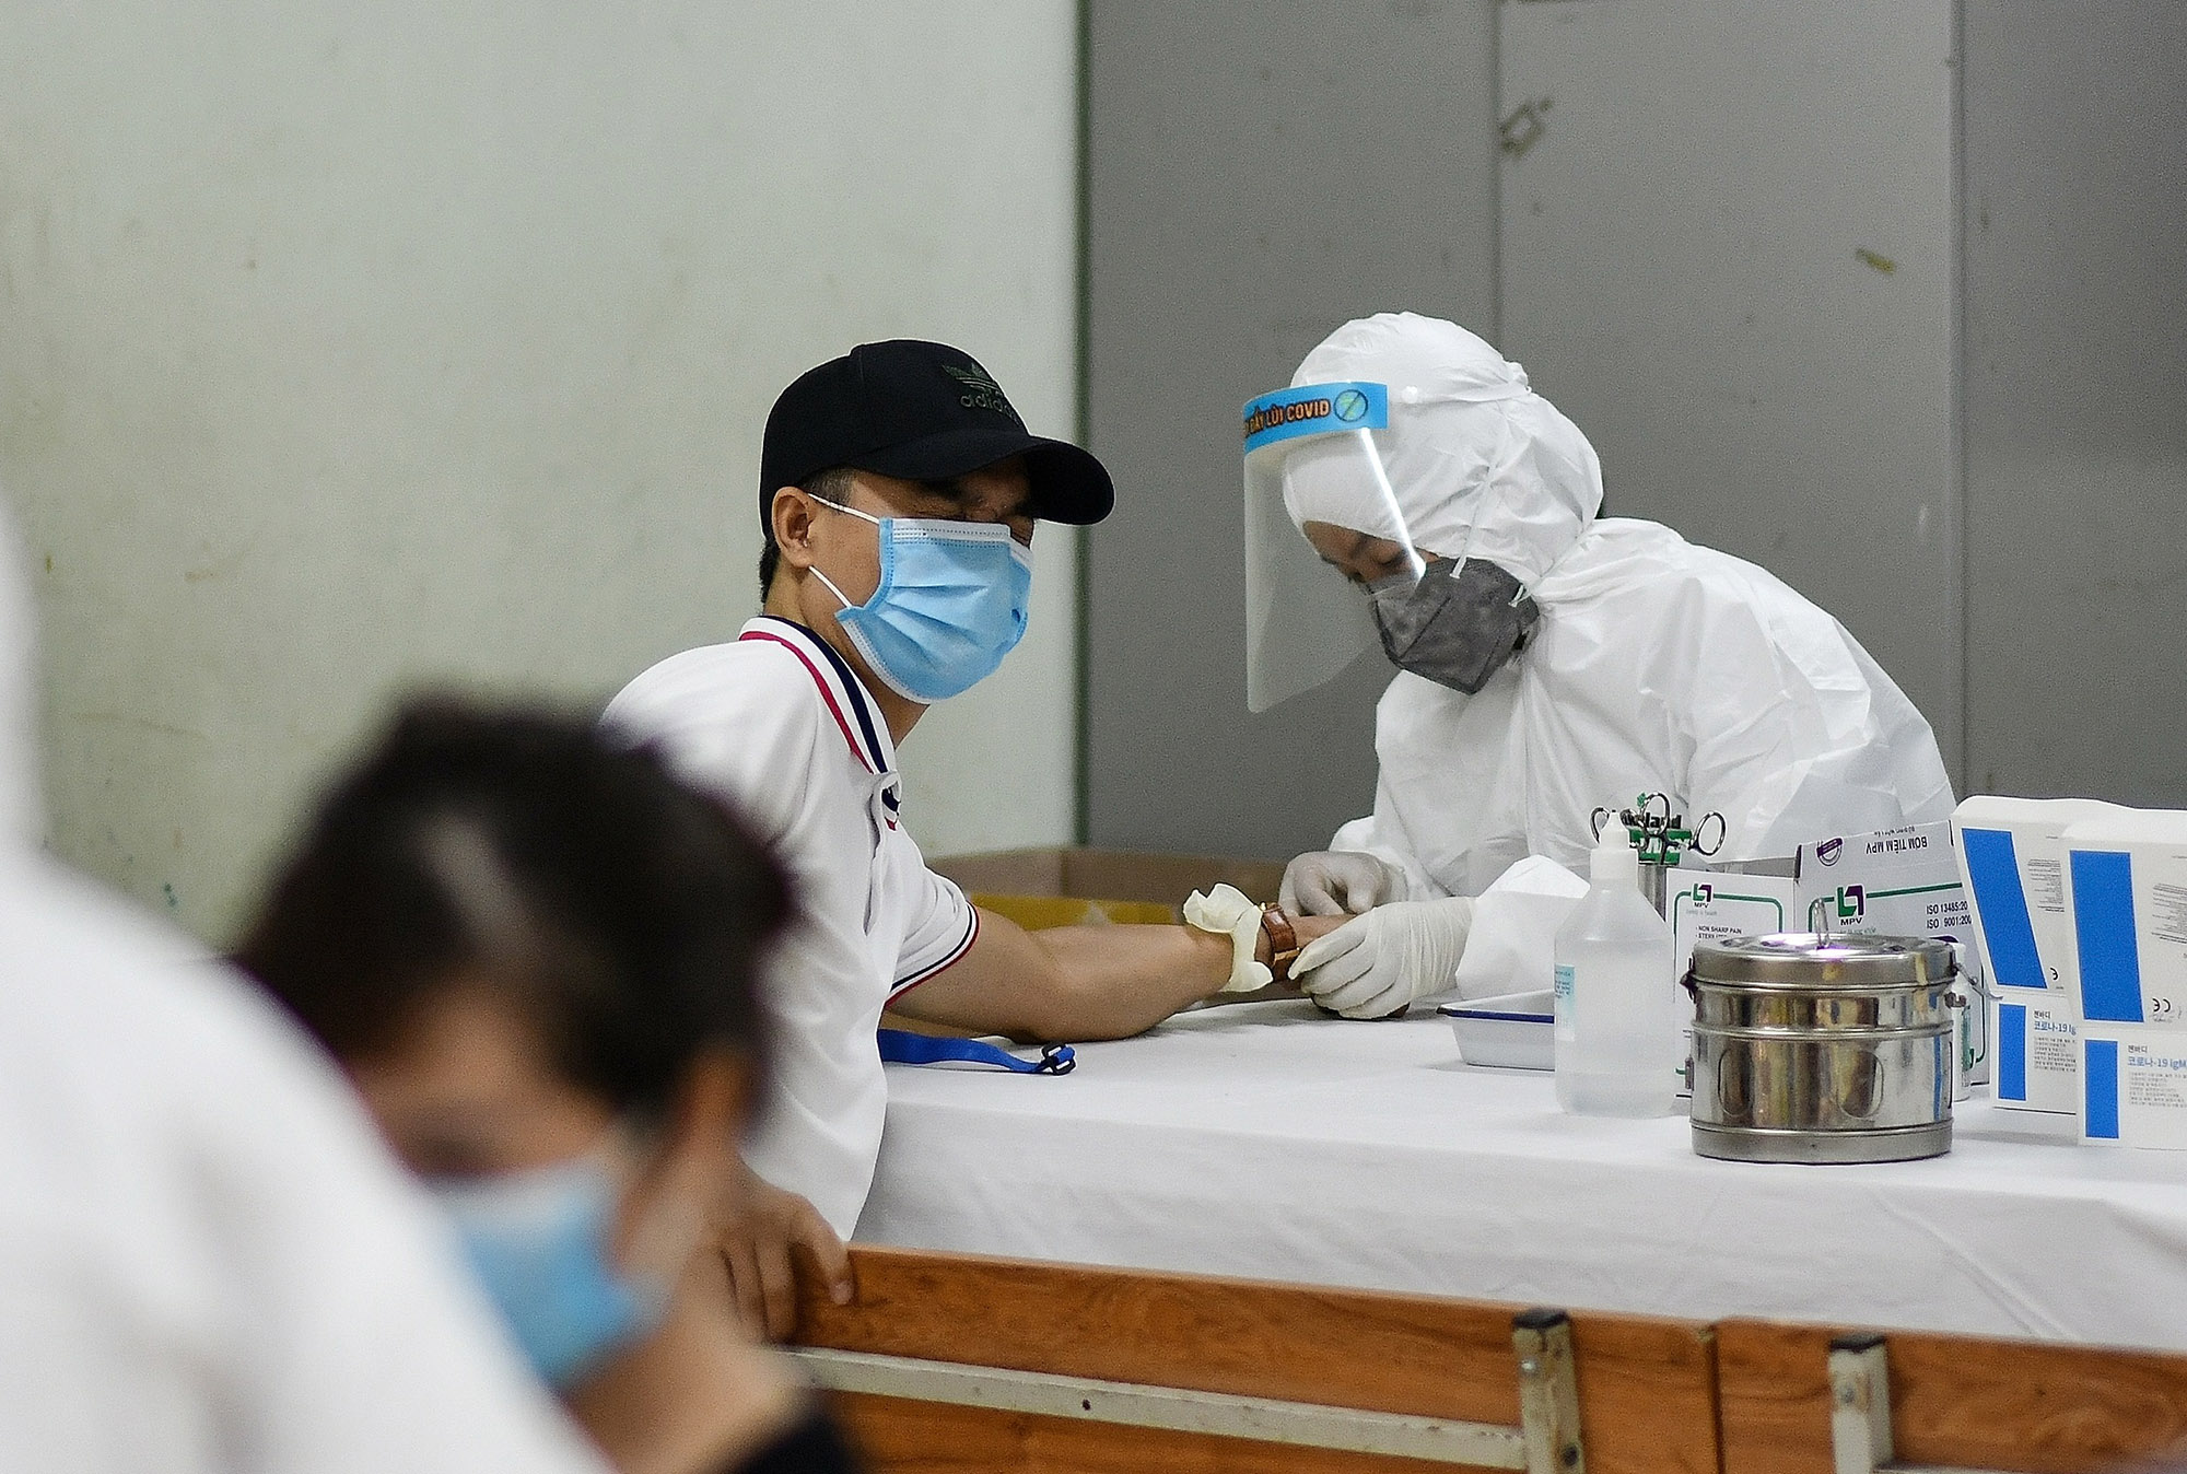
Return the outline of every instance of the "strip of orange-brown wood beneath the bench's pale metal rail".
[[[1454,1465],[835,1393],[884,1474],[1452,1474]]]

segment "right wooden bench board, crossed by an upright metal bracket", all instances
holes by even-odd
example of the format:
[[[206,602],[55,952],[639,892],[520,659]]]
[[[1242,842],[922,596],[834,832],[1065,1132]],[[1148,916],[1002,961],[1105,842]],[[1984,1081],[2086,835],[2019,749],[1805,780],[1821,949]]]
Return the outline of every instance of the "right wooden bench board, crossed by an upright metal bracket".
[[[1723,1321],[1723,1467],[1831,1472],[1831,1338]],[[2080,1474],[2187,1448],[2187,1356],[1887,1332],[1898,1461]]]

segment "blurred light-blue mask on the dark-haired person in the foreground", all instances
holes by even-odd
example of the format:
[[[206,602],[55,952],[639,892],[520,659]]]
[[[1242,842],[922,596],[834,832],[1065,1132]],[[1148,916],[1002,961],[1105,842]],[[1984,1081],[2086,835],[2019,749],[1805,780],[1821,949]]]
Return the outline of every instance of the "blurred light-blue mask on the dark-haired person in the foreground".
[[[615,1264],[619,1192],[604,1159],[435,1183],[433,1196],[455,1220],[472,1275],[549,1387],[569,1389],[667,1314],[667,1282]]]

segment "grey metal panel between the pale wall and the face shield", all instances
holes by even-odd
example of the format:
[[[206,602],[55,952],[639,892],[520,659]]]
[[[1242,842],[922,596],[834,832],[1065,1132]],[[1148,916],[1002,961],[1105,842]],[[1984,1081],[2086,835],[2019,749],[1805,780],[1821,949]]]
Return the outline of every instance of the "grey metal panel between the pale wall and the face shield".
[[[1494,332],[1494,7],[1089,7],[1089,840],[1319,849],[1391,671],[1247,713],[1238,413],[1363,313]]]

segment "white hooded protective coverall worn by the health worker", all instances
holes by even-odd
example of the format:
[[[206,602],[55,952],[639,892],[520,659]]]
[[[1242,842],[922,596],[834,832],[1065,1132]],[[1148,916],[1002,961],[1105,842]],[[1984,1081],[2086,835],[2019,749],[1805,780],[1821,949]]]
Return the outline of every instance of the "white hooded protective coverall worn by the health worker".
[[[1487,558],[1542,608],[1476,693],[1400,674],[1376,711],[1376,811],[1332,849],[1404,868],[1413,899],[1481,894],[1527,855],[1586,870],[1597,807],[1669,794],[1726,820],[1721,857],[1951,816],[1929,724],[1837,619],[1669,527],[1597,520],[1594,448],[1472,332],[1345,324],[1297,383],[1389,385],[1376,435],[1417,547]],[[1360,525],[1358,479],[1293,457],[1295,523]],[[1332,575],[1334,577],[1334,575]]]

